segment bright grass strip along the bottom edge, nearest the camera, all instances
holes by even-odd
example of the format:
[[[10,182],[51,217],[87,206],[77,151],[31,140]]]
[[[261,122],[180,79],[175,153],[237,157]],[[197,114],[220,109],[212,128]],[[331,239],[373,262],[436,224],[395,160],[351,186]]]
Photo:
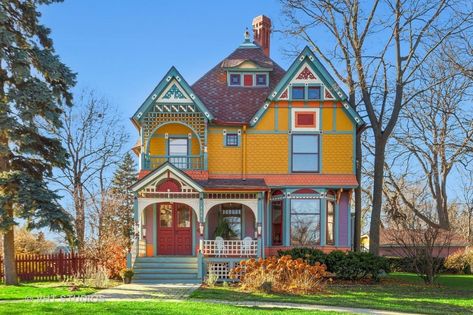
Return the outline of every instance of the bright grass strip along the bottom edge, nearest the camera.
[[[28,304],[25,306],[25,304]],[[309,312],[296,309],[264,309],[243,306],[221,305],[203,302],[29,302],[0,303],[1,314],[320,314],[335,312]]]

